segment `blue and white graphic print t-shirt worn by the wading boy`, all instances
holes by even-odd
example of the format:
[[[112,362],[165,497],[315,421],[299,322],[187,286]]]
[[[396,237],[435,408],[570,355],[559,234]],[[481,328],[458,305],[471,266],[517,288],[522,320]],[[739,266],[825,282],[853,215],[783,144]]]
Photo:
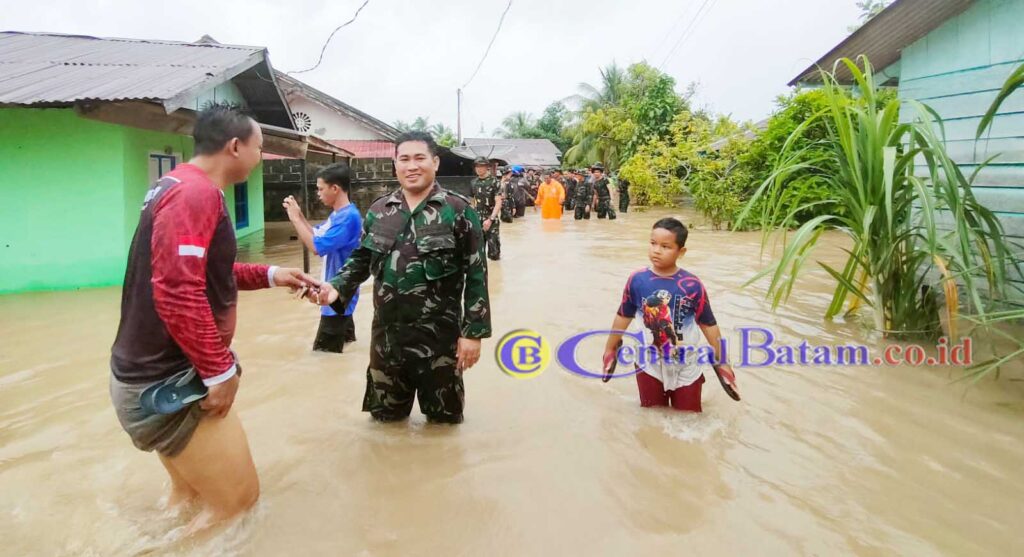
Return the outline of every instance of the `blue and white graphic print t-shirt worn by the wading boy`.
[[[634,317],[631,331],[642,330],[646,344],[657,347],[659,355],[665,354],[666,345],[695,348],[702,338],[699,326],[717,323],[703,284],[683,269],[672,276],[659,276],[649,268],[631,274],[623,291],[618,314]],[[660,380],[666,390],[673,390],[699,379],[706,367],[697,362],[694,350],[684,361],[660,357],[640,368]]]

